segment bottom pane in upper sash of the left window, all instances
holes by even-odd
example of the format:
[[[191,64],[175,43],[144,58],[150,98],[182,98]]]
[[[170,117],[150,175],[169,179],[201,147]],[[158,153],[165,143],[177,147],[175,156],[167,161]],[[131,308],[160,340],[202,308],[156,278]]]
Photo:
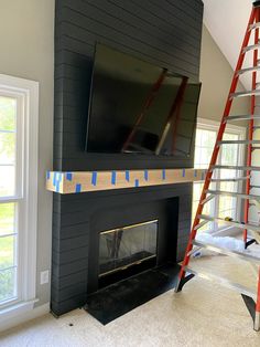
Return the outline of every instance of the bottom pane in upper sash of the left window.
[[[14,165],[0,165],[0,197],[9,197],[15,193],[15,167]]]

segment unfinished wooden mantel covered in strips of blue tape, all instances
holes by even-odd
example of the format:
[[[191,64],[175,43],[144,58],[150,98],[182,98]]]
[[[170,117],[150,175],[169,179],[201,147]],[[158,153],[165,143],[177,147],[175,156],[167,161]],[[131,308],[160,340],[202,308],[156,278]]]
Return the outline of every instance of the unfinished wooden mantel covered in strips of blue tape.
[[[47,190],[62,194],[204,180],[205,169],[150,169],[115,171],[47,171]]]

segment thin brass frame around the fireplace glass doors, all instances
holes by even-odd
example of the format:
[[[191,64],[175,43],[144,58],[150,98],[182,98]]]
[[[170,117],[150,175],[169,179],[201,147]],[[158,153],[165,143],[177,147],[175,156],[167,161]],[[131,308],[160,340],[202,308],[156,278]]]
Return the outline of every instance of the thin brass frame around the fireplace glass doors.
[[[153,219],[153,220],[149,220],[149,221],[140,222],[140,223],[128,224],[128,225],[124,225],[124,227],[118,227],[118,228],[100,231],[99,232],[99,242],[100,242],[101,235],[106,235],[106,234],[109,234],[109,233],[115,233],[115,232],[121,231],[121,230],[126,231],[126,230],[133,229],[133,228],[137,228],[137,227],[154,224],[154,223],[156,224],[154,254],[151,254],[149,256],[145,256],[145,257],[132,261],[131,263],[128,263],[128,264],[122,264],[121,266],[117,266],[115,269],[108,270],[108,271],[102,272],[102,273],[100,273],[100,262],[98,262],[98,267],[99,267],[98,277],[101,278],[101,277],[107,276],[109,274],[117,273],[119,271],[123,271],[123,270],[129,269],[129,267],[131,267],[133,265],[139,265],[139,264],[141,264],[141,263],[143,263],[143,262],[145,262],[148,260],[152,260],[152,259],[156,260],[156,257],[158,257],[158,242],[159,242],[159,219]],[[99,256],[100,256],[100,245],[99,245]],[[99,261],[100,261],[100,257],[99,257]]]

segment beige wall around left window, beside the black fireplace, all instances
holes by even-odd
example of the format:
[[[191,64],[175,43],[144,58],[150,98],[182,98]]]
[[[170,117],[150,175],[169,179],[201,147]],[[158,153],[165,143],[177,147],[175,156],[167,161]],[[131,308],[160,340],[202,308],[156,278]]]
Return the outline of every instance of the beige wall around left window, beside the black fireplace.
[[[0,73],[40,82],[37,305],[50,301],[50,284],[39,274],[51,269],[52,193],[45,171],[52,168],[55,0],[0,0]]]

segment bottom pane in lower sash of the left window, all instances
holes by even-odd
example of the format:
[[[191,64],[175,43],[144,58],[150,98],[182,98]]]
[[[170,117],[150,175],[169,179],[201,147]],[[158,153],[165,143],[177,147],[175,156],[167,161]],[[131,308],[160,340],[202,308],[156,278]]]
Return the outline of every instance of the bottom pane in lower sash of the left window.
[[[17,269],[0,271],[0,302],[15,297]]]

